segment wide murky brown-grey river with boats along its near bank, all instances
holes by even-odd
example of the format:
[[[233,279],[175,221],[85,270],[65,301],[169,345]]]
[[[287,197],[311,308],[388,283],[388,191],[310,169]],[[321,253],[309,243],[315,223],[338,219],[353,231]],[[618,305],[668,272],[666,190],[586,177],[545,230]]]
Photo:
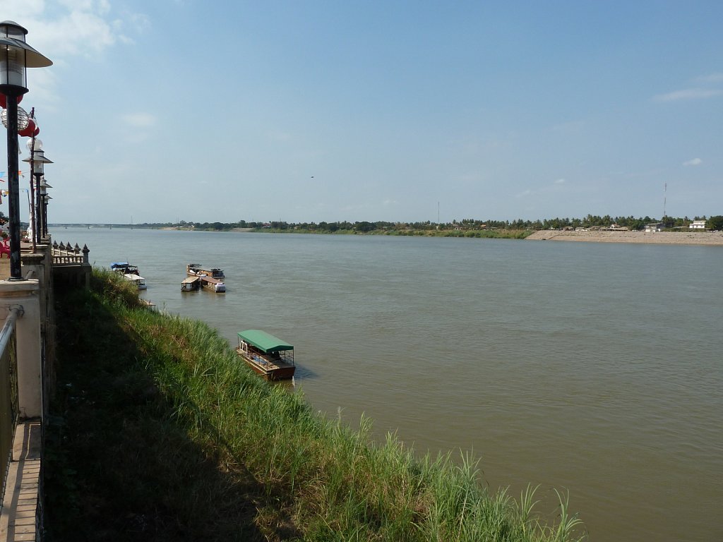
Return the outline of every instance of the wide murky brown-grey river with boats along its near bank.
[[[159,309],[296,347],[297,392],[490,488],[553,488],[591,541],[723,540],[723,247],[56,228]],[[226,294],[181,293],[185,265]],[[554,512],[552,512],[554,513]]]

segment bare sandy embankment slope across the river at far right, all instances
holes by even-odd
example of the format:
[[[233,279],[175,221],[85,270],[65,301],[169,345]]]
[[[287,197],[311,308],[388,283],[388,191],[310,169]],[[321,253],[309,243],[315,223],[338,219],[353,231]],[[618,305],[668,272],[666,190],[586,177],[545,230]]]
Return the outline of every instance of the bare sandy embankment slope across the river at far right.
[[[536,231],[533,241],[591,241],[598,243],[656,243],[723,246],[723,231]]]

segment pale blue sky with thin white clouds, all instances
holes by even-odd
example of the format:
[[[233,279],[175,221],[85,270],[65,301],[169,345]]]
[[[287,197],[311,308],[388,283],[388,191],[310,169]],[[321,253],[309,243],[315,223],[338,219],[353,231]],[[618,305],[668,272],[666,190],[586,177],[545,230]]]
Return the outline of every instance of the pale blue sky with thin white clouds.
[[[54,61],[20,104],[51,224],[723,215],[719,0],[0,0],[0,20]]]

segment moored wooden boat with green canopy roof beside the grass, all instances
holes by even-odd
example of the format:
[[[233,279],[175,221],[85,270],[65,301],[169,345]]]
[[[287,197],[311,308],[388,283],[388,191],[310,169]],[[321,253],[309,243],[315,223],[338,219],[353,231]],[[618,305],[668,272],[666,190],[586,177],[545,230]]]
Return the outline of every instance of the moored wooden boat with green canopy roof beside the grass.
[[[294,377],[294,346],[261,330],[239,332],[236,353],[246,364],[267,380]]]

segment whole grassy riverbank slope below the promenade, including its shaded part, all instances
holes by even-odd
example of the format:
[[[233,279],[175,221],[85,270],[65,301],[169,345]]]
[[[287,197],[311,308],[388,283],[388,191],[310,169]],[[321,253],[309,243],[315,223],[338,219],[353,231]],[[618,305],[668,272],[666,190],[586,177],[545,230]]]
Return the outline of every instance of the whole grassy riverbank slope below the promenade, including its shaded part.
[[[143,309],[95,271],[58,293],[46,454],[48,541],[573,541],[558,494],[489,494],[470,456],[418,459],[315,413],[239,363],[206,324]]]

